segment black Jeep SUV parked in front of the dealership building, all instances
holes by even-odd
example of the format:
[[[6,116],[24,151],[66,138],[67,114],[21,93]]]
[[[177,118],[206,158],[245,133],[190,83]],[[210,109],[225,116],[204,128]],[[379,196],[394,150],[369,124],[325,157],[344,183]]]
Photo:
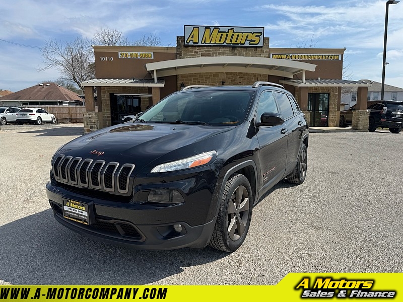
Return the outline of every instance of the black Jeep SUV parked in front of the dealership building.
[[[91,238],[232,252],[268,189],[305,180],[307,147],[305,116],[281,85],[189,87],[61,146],[46,193],[56,220]]]

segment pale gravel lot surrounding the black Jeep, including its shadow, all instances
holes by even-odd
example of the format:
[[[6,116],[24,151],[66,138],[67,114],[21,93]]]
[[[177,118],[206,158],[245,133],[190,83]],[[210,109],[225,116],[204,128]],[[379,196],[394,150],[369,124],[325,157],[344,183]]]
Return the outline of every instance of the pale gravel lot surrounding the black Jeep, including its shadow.
[[[129,250],[57,223],[50,159],[82,124],[0,131],[0,284],[276,284],[289,272],[402,272],[403,133],[312,133],[308,175],[254,208],[232,254]]]

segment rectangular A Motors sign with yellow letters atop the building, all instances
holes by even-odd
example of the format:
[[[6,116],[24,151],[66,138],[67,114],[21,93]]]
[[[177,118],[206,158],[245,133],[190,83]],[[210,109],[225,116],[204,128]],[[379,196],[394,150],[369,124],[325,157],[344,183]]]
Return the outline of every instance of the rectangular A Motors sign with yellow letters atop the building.
[[[185,46],[263,47],[264,27],[185,25]]]

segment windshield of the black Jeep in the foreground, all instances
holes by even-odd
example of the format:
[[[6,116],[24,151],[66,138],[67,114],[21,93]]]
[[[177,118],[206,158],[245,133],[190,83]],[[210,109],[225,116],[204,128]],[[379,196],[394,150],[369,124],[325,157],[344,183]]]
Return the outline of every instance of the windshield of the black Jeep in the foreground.
[[[238,125],[245,120],[253,91],[189,91],[172,94],[141,115],[154,123]]]

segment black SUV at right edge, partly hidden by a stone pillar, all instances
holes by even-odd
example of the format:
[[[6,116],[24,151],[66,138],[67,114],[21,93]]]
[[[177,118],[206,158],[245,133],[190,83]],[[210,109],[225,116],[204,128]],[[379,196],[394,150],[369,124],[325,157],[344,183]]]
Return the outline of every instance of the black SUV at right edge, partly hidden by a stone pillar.
[[[340,126],[351,125],[355,106],[340,112]],[[403,129],[403,102],[401,101],[368,101],[369,111],[368,130],[373,132],[376,128],[389,128],[392,133],[399,133]]]

